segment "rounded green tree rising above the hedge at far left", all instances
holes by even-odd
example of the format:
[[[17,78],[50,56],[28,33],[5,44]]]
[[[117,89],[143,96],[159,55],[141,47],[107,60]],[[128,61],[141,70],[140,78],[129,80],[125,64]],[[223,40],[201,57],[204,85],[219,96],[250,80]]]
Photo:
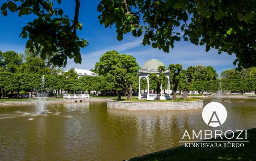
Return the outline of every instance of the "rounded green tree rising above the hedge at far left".
[[[11,73],[15,73],[22,63],[21,55],[14,51],[6,51],[2,53],[3,67]]]

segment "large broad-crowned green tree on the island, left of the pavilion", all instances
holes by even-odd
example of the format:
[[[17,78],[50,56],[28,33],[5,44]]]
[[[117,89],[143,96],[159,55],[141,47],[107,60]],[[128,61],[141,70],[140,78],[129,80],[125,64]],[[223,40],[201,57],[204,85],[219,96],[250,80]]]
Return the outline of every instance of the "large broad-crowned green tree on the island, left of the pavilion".
[[[121,99],[120,90],[124,90],[127,99],[132,98],[132,86],[137,77],[139,64],[132,55],[119,54],[117,51],[107,51],[95,64],[95,70],[100,76],[114,83],[116,93]],[[133,79],[133,80],[132,80]],[[136,82],[137,83],[137,82]]]

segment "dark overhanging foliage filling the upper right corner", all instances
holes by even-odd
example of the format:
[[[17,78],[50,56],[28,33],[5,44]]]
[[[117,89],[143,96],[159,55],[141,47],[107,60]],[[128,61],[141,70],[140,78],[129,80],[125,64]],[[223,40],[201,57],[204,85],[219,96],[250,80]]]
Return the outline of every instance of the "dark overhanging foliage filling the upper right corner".
[[[239,70],[256,67],[254,0],[101,0],[97,10],[101,25],[115,24],[119,41],[123,34],[137,37],[145,31],[143,45],[152,43],[153,48],[169,52],[180,41],[175,27],[181,26],[185,41],[206,44],[206,51],[235,54]]]

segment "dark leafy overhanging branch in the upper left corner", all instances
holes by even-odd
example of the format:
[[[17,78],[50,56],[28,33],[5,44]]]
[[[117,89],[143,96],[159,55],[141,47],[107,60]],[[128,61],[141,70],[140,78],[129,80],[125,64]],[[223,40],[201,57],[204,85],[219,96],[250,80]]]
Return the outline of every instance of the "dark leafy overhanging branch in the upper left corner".
[[[59,4],[61,0],[56,0]],[[66,66],[67,57],[74,58],[75,63],[81,64],[80,48],[86,47],[88,41],[79,38],[76,35],[76,30],[82,29],[82,24],[78,21],[80,1],[75,0],[75,16],[74,20],[70,20],[68,16],[63,16],[61,8],[53,8],[53,1],[49,0],[7,0],[1,6],[1,14],[7,16],[7,10],[18,12],[19,17],[22,15],[34,14],[36,19],[33,22],[28,22],[28,25],[22,28],[20,36],[29,38],[26,48],[36,54],[39,53],[42,47],[42,59],[46,55],[54,55],[50,61],[54,65]],[[18,4],[18,6],[17,6]]]

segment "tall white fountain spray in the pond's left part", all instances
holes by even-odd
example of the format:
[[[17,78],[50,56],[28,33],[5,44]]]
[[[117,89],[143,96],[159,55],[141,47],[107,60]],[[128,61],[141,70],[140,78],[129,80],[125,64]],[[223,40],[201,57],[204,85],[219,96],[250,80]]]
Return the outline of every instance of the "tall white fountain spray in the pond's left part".
[[[42,77],[42,87],[41,91],[36,92],[36,97],[38,97],[38,101],[35,103],[36,107],[40,110],[39,114],[46,114],[45,110],[49,105],[49,102],[46,102],[46,96],[48,96],[48,91],[44,91],[45,86],[45,76]]]

